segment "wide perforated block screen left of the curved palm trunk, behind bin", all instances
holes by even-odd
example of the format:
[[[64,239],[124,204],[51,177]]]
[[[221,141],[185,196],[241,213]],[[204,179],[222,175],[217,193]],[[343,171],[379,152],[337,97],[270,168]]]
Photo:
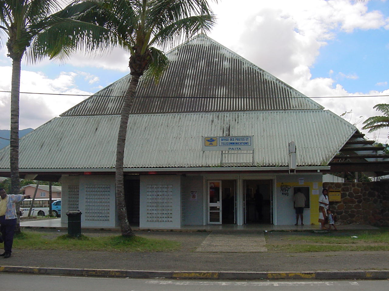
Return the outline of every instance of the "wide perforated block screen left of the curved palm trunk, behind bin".
[[[85,220],[109,220],[110,185],[85,185]]]

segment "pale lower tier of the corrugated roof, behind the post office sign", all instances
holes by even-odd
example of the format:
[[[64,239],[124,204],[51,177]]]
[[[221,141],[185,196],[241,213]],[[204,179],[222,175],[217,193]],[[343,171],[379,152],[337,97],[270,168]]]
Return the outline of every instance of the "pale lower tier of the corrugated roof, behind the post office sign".
[[[20,140],[21,170],[114,168],[119,118],[54,118]],[[355,131],[323,110],[137,114],[129,120],[124,167],[220,167],[220,152],[203,152],[201,137],[234,135],[253,135],[255,148],[254,164],[229,156],[235,166],[287,166],[291,141],[298,166],[321,166]],[[0,151],[0,168],[9,168],[8,147]]]

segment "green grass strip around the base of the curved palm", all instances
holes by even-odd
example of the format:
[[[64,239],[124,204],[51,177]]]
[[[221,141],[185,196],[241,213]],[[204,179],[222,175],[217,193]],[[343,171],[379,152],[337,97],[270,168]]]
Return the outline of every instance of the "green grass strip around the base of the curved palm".
[[[53,237],[47,233],[25,231],[14,238],[14,248],[19,249],[72,249],[88,251],[124,251],[124,252],[155,252],[172,251],[180,248],[175,241],[149,239],[140,236],[101,236],[69,237],[68,235]]]

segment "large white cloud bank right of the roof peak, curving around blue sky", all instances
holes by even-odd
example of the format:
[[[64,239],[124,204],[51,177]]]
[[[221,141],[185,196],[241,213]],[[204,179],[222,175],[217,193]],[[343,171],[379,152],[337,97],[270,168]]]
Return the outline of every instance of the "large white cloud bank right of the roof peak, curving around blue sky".
[[[347,92],[337,83],[342,79],[356,80],[356,73],[333,76],[334,71],[330,70],[329,78],[312,79],[310,68],[320,48],[335,39],[339,31],[352,33],[355,29],[388,28],[389,18],[380,11],[368,11],[368,1],[246,0],[245,5],[234,3],[234,0],[223,0],[214,6],[219,23],[210,33],[212,38],[309,97],[366,95]],[[237,15],[246,17],[238,21]],[[370,94],[387,95],[388,90]],[[352,111],[347,118],[361,128],[363,120],[377,115],[373,106],[387,102],[387,97],[314,100],[338,115]],[[378,137],[363,132],[368,138]],[[379,140],[385,142],[386,135],[381,132]]]

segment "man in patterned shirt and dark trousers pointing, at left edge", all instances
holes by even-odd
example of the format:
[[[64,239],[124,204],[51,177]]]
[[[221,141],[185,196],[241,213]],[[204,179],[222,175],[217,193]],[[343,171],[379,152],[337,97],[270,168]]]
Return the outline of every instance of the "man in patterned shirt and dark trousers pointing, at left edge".
[[[0,232],[1,239],[4,240],[4,253],[0,256],[9,258],[12,252],[12,242],[14,241],[14,233],[16,227],[16,207],[15,204],[26,199],[28,196],[7,195],[4,188],[0,188]]]

